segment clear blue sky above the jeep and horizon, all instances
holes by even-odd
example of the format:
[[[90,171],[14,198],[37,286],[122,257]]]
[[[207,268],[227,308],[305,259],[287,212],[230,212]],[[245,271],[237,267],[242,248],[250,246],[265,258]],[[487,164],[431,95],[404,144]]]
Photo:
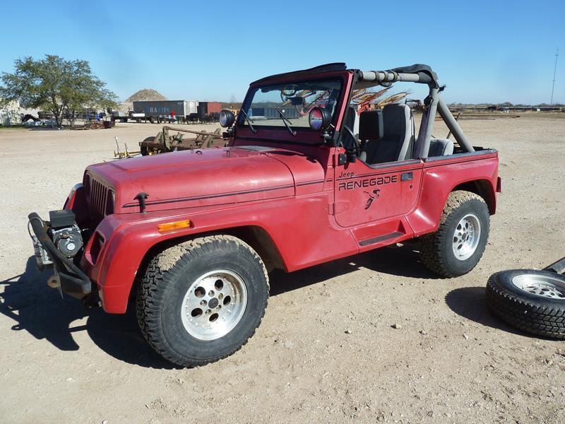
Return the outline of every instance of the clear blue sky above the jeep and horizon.
[[[565,102],[565,1],[22,6],[9,1],[0,9],[0,71],[13,71],[14,59],[25,56],[85,59],[120,100],[141,88],[172,100],[242,100],[262,76],[345,61],[358,69],[429,64],[448,102],[549,102],[561,46],[554,102]]]

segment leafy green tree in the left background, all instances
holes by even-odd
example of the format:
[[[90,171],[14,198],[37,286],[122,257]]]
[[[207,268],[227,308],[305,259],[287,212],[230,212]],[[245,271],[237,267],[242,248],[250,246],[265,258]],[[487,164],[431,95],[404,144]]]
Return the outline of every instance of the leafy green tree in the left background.
[[[85,107],[110,107],[116,95],[93,75],[85,60],[68,61],[46,54],[44,59],[16,59],[14,73],[3,72],[0,98],[18,100],[23,107],[49,110],[61,126],[64,112],[73,119]]]

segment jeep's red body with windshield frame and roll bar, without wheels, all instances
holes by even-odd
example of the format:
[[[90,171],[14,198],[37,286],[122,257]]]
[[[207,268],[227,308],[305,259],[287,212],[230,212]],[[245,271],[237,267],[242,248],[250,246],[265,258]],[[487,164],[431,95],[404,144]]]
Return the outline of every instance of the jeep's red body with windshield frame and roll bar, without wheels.
[[[282,122],[262,126],[258,119],[251,129],[238,114],[227,148],[89,166],[65,208],[75,213],[85,237],[74,263],[104,310],[126,312],[148,259],[197,235],[237,235],[271,267],[290,272],[434,232],[455,189],[479,194],[494,213],[498,153],[472,148],[458,125],[448,122],[435,74],[427,69],[379,73],[333,64],[263,78],[251,83],[244,112],[262,87],[339,81],[331,129],[322,135],[296,127],[292,135]],[[412,153],[386,163],[355,158],[344,130],[352,90],[407,80],[430,87]],[[459,146],[452,154],[429,157],[437,107]],[[183,225],[162,226],[169,223]]]

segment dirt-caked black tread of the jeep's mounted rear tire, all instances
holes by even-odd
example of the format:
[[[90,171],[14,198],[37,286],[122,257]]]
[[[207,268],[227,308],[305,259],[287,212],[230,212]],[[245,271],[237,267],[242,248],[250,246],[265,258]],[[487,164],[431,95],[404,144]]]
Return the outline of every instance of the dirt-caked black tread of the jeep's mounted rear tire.
[[[456,277],[458,274],[453,273],[444,261],[441,255],[441,240],[446,235],[449,228],[444,225],[451,213],[468,201],[477,200],[485,204],[484,199],[478,194],[456,190],[451,192],[447,198],[444,211],[441,213],[439,220],[439,228],[436,232],[420,237],[420,260],[422,264],[430,271],[444,277]],[[479,259],[482,257],[482,252]]]

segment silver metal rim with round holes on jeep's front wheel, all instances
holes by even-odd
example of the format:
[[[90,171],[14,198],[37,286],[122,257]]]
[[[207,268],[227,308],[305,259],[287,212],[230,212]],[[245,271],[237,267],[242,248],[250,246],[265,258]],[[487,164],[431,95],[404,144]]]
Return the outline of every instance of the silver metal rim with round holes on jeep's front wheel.
[[[243,279],[227,269],[211,271],[191,284],[184,295],[184,329],[199,340],[215,340],[232,331],[247,305]]]

